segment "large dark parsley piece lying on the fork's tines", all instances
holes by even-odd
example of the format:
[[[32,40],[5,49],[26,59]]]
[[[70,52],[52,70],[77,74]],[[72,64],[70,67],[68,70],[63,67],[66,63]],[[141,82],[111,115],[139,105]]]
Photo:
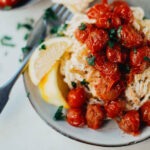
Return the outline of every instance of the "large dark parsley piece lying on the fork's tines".
[[[43,19],[44,20],[58,20],[58,17],[56,16],[52,8],[47,8],[44,12]]]

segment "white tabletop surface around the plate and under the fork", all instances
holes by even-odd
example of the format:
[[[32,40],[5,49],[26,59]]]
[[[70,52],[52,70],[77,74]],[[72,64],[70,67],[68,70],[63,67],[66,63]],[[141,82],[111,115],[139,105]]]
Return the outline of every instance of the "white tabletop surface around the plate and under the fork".
[[[0,37],[10,35],[17,45],[15,48],[0,47],[0,85],[15,73],[20,64],[18,60],[21,47],[25,45],[23,37],[26,32],[17,31],[17,23],[30,17],[38,19],[48,4],[49,1],[42,0],[32,8],[0,12]],[[4,56],[6,51],[8,56]],[[0,150],[148,150],[149,147],[150,140],[129,147],[102,148],[60,135],[46,125],[33,110],[26,98],[22,78],[17,81],[10,100],[0,115]]]

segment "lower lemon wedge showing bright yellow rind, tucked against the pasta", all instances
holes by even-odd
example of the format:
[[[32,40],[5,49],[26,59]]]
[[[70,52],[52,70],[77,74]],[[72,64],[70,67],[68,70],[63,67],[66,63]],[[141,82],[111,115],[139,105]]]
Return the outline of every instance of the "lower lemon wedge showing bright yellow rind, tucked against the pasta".
[[[57,61],[39,83],[42,98],[49,104],[68,108],[66,97],[68,86],[59,72],[60,62]]]

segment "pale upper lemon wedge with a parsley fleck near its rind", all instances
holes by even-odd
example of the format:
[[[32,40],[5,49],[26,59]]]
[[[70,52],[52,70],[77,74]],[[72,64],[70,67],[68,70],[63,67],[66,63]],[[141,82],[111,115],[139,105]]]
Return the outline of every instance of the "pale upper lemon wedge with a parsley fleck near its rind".
[[[44,75],[71,45],[70,38],[60,37],[45,41],[35,50],[29,61],[29,76],[34,85],[39,84]]]

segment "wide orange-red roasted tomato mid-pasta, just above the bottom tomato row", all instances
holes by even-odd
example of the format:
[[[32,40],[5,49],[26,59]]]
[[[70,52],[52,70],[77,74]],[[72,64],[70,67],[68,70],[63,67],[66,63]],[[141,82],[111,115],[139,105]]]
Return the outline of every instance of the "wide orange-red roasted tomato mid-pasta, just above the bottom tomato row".
[[[116,100],[124,91],[124,83],[122,81],[113,81],[106,78],[101,78],[98,85],[95,86],[97,95],[103,101]]]

